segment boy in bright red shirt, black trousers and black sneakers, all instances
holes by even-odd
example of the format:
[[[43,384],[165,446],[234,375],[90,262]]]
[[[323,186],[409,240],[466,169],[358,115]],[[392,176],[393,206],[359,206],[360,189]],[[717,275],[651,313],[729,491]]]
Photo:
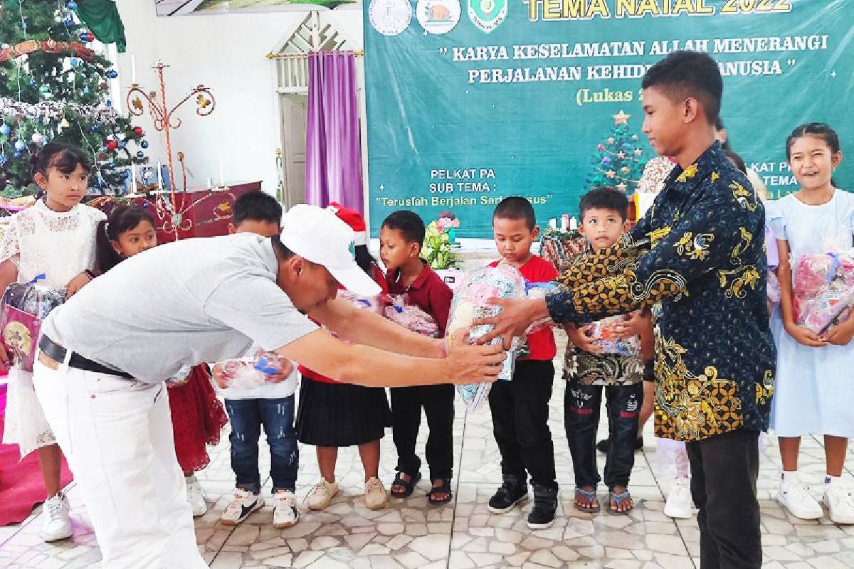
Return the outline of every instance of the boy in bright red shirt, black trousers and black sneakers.
[[[540,235],[529,200],[506,198],[492,216],[495,246],[504,261],[516,267],[528,282],[549,282],[558,271],[530,252]],[[496,266],[498,261],[490,266]],[[553,358],[557,353],[552,328],[528,335],[529,355],[516,362],[511,381],[496,381],[489,392],[493,433],[501,453],[503,484],[489,499],[489,511],[509,512],[528,497],[528,475],[534,489],[534,508],[528,527],[544,529],[554,523],[558,483],[554,473],[552,432],[548,428],[548,400],[552,397]]]

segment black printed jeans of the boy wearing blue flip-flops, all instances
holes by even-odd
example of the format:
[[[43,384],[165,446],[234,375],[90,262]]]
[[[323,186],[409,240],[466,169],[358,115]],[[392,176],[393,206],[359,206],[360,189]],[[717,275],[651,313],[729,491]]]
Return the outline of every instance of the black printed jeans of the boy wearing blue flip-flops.
[[[599,484],[596,465],[596,430],[602,389],[605,389],[608,408],[608,428],[611,446],[605,459],[605,485],[628,486],[629,474],[635,466],[635,441],[638,436],[638,415],[643,404],[643,383],[628,386],[583,386],[571,381],[564,394],[564,427],[570,443],[572,467],[576,486]]]

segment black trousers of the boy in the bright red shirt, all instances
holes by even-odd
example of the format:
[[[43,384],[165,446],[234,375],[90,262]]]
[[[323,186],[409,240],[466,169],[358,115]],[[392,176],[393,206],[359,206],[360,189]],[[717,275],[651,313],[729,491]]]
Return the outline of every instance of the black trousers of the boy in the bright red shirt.
[[[554,365],[551,361],[516,363],[511,381],[496,381],[489,391],[492,429],[501,453],[501,473],[528,478],[536,485],[557,488],[554,446],[548,428],[548,400],[552,398]]]

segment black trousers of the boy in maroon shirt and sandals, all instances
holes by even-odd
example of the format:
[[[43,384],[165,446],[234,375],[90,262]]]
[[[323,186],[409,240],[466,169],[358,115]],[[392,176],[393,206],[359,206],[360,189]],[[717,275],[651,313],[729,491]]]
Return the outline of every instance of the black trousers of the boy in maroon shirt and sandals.
[[[421,459],[415,454],[415,440],[424,407],[430,427],[424,449],[430,465],[430,479],[450,479],[453,475],[453,397],[456,392],[453,385],[395,387],[389,392],[397,470],[410,476],[421,470]]]

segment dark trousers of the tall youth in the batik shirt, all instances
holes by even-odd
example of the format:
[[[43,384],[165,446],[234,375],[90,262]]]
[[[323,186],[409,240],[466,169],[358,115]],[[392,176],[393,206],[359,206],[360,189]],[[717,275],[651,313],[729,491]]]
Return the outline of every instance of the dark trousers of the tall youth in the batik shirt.
[[[759,569],[759,433],[731,431],[689,442],[686,449],[691,461],[691,496],[699,508],[700,567]]]

